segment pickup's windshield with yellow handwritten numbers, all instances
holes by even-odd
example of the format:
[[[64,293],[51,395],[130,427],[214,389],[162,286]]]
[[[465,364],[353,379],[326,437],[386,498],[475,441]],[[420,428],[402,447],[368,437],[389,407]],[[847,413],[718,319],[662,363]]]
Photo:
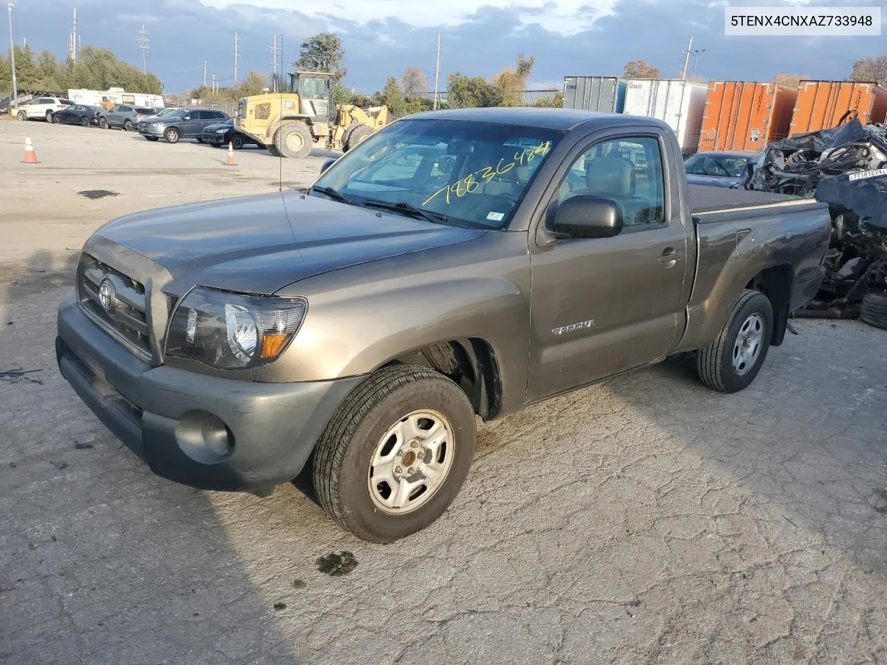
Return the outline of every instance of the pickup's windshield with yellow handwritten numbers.
[[[487,122],[398,121],[350,150],[312,195],[329,188],[358,206],[406,204],[441,223],[503,229],[561,136]]]

